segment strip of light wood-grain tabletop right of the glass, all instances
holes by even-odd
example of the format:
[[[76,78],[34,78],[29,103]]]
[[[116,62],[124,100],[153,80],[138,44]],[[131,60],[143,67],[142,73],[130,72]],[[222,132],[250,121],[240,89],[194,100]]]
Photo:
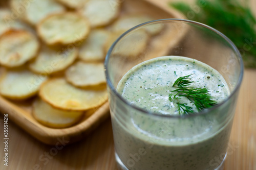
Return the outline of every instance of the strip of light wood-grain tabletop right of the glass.
[[[229,141],[225,169],[256,169],[256,70],[246,69]]]

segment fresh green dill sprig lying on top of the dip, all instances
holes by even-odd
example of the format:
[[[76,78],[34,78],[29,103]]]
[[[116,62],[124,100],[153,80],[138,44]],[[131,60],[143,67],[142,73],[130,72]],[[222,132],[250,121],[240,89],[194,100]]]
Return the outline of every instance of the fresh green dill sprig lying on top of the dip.
[[[181,96],[187,98],[190,102],[194,103],[197,110],[203,110],[214,106],[217,104],[216,101],[213,100],[212,96],[210,95],[208,89],[206,88],[191,88],[188,87],[194,81],[191,81],[191,75],[183,76],[178,78],[174,84],[177,85],[177,89],[171,91],[169,94],[169,101],[180,99]],[[173,94],[173,92],[177,92]],[[173,98],[172,98],[173,96]],[[179,114],[192,114],[194,111],[192,107],[187,106],[187,103],[179,103],[177,102]]]

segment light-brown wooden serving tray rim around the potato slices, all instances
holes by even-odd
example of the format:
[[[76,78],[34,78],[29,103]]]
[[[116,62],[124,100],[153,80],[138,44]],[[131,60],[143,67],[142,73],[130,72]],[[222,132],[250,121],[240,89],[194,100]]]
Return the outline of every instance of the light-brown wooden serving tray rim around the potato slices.
[[[130,13],[144,13],[155,19],[184,18],[177,11],[166,7],[159,7],[152,0],[125,0],[122,1],[121,15]],[[26,102],[12,102],[0,96],[0,111],[8,113],[11,119],[20,128],[27,131],[36,139],[46,144],[55,145],[59,140],[65,139],[68,144],[86,137],[100,123],[109,117],[109,103],[93,109],[76,125],[70,128],[53,129],[38,123],[32,116],[32,100]]]

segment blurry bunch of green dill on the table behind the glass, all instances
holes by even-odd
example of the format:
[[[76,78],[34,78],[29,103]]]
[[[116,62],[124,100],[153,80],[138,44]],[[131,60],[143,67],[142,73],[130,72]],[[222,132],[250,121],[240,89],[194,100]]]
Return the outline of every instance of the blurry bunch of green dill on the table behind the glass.
[[[196,0],[199,10],[193,11],[182,2],[170,5],[195,20],[226,35],[242,54],[246,67],[256,68],[256,19],[251,10],[236,0]]]

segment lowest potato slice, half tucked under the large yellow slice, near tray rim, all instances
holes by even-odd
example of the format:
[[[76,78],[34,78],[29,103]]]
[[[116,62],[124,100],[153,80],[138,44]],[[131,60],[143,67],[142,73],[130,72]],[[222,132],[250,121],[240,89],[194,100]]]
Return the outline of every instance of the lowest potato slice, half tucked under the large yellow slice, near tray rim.
[[[51,128],[67,128],[76,124],[83,116],[83,112],[56,109],[37,99],[33,103],[33,116],[42,125]]]

